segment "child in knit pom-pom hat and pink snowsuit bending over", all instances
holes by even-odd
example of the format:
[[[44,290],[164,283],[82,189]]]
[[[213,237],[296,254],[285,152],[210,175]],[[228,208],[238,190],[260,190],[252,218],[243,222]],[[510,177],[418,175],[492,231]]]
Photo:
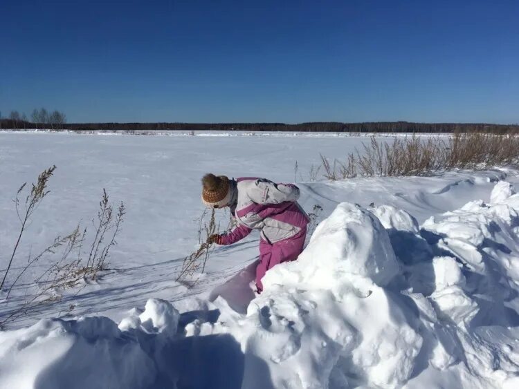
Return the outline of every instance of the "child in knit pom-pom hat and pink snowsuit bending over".
[[[275,184],[265,178],[238,178],[206,174],[202,178],[202,202],[210,208],[230,207],[237,227],[223,235],[209,237],[211,243],[232,245],[253,229],[260,229],[260,263],[256,268],[257,292],[262,278],[278,263],[295,260],[307,236],[309,218],[297,200],[299,188]]]

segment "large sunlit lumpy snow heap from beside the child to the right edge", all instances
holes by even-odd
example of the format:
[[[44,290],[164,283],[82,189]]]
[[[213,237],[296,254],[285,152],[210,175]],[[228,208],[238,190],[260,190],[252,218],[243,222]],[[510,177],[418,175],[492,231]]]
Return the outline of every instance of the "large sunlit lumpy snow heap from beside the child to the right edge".
[[[338,205],[230,333],[275,388],[513,386],[519,195],[503,188],[422,227],[393,207]]]

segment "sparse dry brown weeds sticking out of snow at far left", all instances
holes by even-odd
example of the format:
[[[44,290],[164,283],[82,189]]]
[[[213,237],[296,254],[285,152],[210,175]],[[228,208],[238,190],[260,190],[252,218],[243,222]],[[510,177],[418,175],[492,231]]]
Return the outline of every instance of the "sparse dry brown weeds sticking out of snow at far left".
[[[89,256],[84,260],[86,252],[83,247],[86,240],[89,240],[87,228],[78,225],[66,236],[57,236],[54,242],[44,248],[39,254],[28,255],[26,263],[17,268],[17,273],[13,274],[12,264],[17,258],[17,252],[22,243],[24,233],[30,225],[30,218],[42,203],[49,191],[48,180],[50,180],[56,167],[50,167],[43,171],[37,180],[37,184],[32,184],[25,200],[25,207],[20,205],[20,197],[26,191],[26,184],[23,184],[17,191],[15,207],[20,220],[20,229],[17,241],[12,250],[8,267],[3,274],[0,290],[5,292],[3,303],[10,304],[12,301],[11,292],[15,289],[21,290],[25,298],[16,302],[6,317],[0,319],[0,328],[9,321],[14,321],[28,312],[36,310],[37,307],[55,301],[60,301],[65,290],[78,286],[86,279],[95,280],[98,274],[106,268],[106,261],[109,250],[116,245],[116,237],[120,232],[122,218],[125,215],[125,206],[120,204],[114,211],[109,202],[109,196],[103,189],[102,199],[99,203],[97,220],[92,220],[95,234],[91,240]],[[40,264],[44,266],[44,271],[36,276],[33,281],[24,281],[20,285],[24,274],[28,270]]]

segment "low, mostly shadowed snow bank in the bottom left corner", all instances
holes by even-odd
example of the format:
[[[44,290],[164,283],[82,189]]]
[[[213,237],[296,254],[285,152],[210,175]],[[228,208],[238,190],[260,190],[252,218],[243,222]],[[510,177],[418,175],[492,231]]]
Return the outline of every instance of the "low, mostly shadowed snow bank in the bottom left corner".
[[[178,323],[170,303],[150,299],[119,328],[98,316],[0,332],[0,388],[239,388],[243,354],[233,337],[186,338]]]

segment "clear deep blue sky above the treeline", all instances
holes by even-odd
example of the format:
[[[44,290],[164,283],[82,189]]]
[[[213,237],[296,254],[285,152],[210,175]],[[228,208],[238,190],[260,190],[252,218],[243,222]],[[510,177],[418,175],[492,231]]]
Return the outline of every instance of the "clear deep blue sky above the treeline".
[[[519,1],[2,0],[0,111],[519,122]]]

